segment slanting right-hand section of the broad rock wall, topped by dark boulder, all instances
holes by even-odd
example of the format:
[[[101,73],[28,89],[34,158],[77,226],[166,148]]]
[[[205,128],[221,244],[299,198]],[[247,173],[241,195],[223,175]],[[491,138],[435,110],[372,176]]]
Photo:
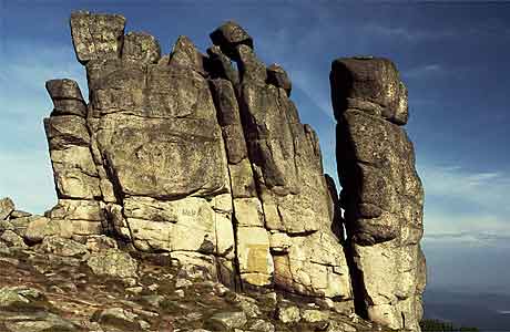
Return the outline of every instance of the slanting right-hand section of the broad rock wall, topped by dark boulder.
[[[350,310],[350,279],[343,247],[330,230],[333,201],[318,141],[288,100],[287,74],[277,65],[267,69],[255,55],[252,38],[235,22],[211,37],[239,69],[241,124],[265,219],[259,234],[268,235],[274,286],[335,299]]]

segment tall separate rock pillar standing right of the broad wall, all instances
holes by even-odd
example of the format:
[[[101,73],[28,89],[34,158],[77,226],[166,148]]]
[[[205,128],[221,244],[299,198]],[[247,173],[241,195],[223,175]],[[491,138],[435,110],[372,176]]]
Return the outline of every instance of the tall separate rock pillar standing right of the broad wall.
[[[357,309],[375,322],[418,331],[424,190],[401,127],[407,90],[386,59],[338,59],[330,83]]]

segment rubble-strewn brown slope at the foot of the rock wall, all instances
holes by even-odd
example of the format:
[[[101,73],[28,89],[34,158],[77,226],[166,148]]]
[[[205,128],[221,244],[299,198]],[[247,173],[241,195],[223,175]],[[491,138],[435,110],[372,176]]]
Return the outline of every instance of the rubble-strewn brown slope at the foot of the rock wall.
[[[99,238],[86,236],[81,240],[90,243]],[[49,239],[26,248],[0,240],[4,243],[4,250],[0,250],[0,331],[377,330],[326,307],[310,309],[286,292],[236,293],[216,281],[186,279],[188,269],[156,253],[113,248],[94,251],[106,261],[103,266],[115,261],[104,257],[124,257],[118,259],[122,261],[124,255],[131,256],[128,260],[137,267],[136,279],[134,284],[126,284],[124,274],[92,269],[86,255],[48,252],[47,242],[80,247],[65,238]],[[123,270],[122,266],[119,262],[116,270]],[[188,286],[176,290],[178,279]],[[294,317],[303,319],[284,323],[278,319],[278,312],[283,312],[279,308],[293,308]],[[318,325],[315,317],[324,318],[324,324]]]

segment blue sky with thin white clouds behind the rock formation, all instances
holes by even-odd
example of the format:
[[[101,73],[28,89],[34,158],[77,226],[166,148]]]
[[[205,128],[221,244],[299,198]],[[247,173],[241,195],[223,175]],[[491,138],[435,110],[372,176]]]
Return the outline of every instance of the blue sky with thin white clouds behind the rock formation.
[[[426,189],[429,286],[510,293],[510,3],[338,1],[0,0],[0,196],[42,212],[55,203],[42,118],[44,82],[70,77],[86,96],[69,31],[72,10],[122,13],[126,31],[180,34],[205,51],[238,21],[258,55],[293,80],[302,121],[336,176],[329,66],[339,56],[395,61],[409,89],[409,136]]]

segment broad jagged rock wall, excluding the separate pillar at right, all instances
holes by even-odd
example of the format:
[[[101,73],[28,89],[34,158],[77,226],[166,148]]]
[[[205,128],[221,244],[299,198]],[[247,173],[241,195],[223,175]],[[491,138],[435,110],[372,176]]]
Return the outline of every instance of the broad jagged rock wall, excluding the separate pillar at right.
[[[120,15],[71,17],[90,103],[72,81],[48,83],[59,195],[51,217],[71,218],[57,214],[62,207],[99,207],[100,220],[83,220],[102,228],[89,234],[170,252],[225,283],[350,311],[348,264],[332,231],[337,195],[285,71],[266,68],[234,22],[211,34],[207,54],[180,37],[167,55],[151,35],[124,34],[124,24]]]

